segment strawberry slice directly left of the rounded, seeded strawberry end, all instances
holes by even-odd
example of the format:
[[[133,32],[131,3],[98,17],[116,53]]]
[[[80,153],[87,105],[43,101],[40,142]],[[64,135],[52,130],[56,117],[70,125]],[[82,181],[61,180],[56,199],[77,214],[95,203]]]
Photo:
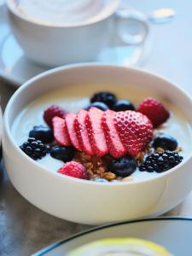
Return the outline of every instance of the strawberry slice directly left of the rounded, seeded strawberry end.
[[[115,112],[107,110],[102,115],[102,128],[105,134],[108,151],[114,158],[119,158],[126,154],[126,149],[120,141],[119,134],[114,127],[113,117]]]

